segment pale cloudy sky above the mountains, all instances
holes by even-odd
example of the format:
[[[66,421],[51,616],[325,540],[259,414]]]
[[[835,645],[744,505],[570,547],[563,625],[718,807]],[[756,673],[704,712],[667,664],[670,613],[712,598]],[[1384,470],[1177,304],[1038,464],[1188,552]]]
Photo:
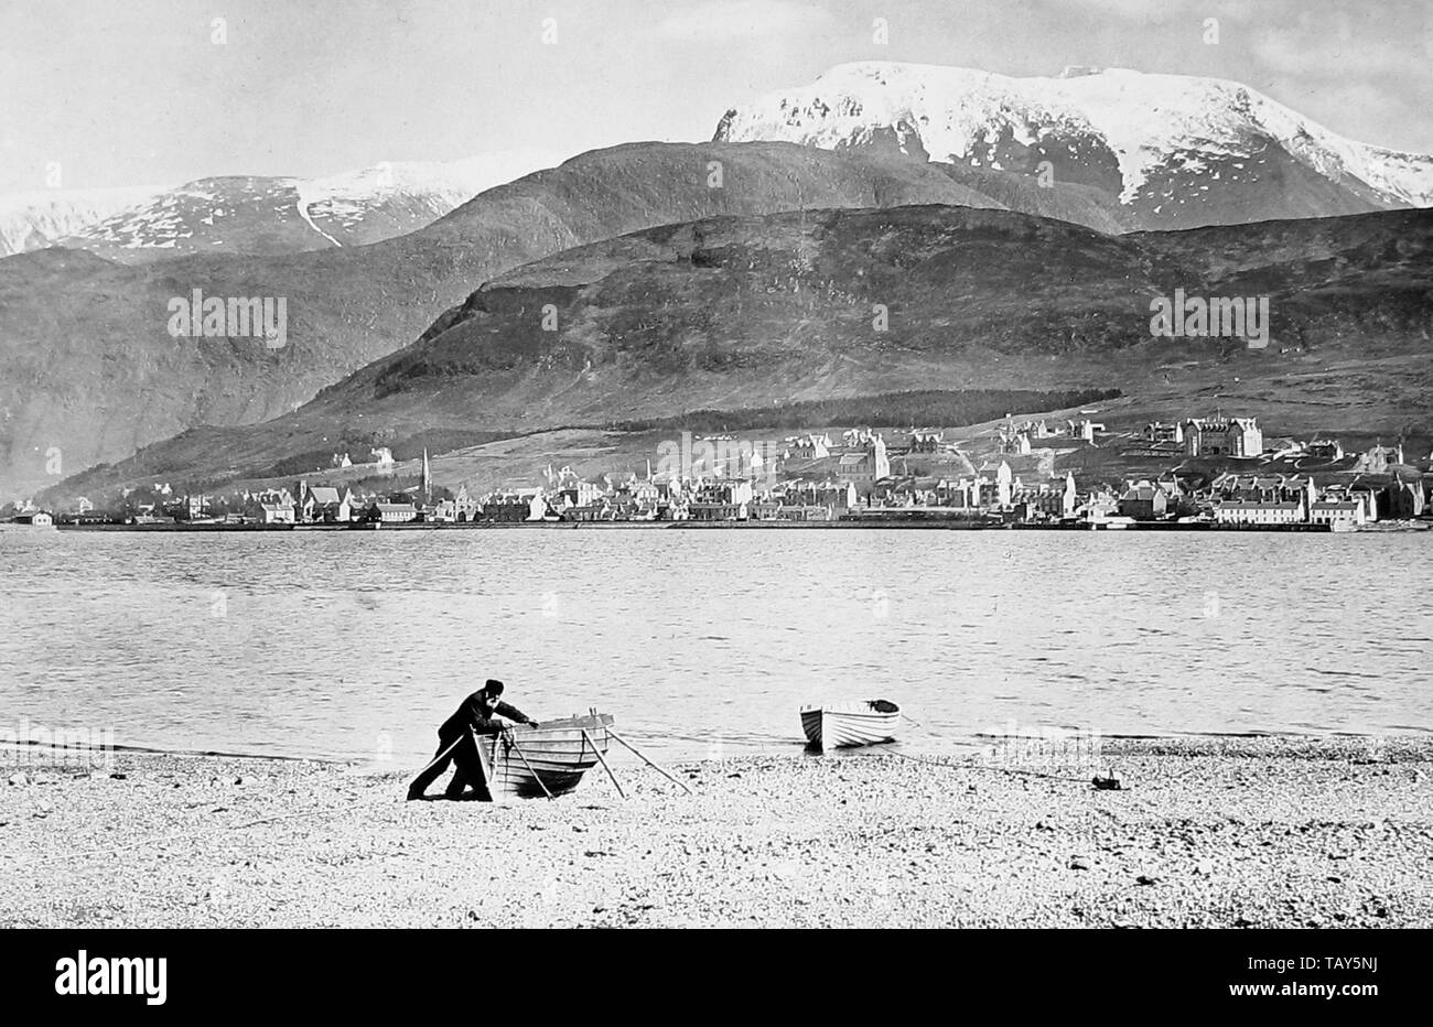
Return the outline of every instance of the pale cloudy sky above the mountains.
[[[516,175],[709,139],[850,60],[1218,76],[1433,152],[1429,0],[0,0],[0,195],[479,155]]]

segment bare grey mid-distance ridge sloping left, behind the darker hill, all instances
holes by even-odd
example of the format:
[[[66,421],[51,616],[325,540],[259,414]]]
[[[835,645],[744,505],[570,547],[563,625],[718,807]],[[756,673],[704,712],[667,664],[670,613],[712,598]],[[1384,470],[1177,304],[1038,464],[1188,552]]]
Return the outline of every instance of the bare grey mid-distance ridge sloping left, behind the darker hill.
[[[907,158],[790,143],[635,143],[489,189],[417,232],[367,246],[136,265],[63,248],[0,259],[0,496],[53,483],[52,448],[69,473],[195,425],[288,413],[539,256],[718,213],[930,202],[996,205]],[[287,345],[172,338],[166,305],[192,289],[284,296]]]

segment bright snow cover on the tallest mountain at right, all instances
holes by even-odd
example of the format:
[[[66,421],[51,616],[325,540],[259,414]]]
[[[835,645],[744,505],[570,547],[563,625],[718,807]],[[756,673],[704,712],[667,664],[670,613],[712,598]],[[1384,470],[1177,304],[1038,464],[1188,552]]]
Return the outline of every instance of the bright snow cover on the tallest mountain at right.
[[[1273,139],[1334,182],[1354,178],[1391,205],[1433,205],[1433,156],[1344,139],[1237,82],[1126,69],[1016,79],[933,64],[840,64],[808,86],[728,112],[716,138],[834,149],[901,125],[919,132],[930,159],[953,163],[980,163],[982,149],[1006,133],[1025,145],[1102,140],[1119,165],[1123,203],[1181,155],[1242,159]]]

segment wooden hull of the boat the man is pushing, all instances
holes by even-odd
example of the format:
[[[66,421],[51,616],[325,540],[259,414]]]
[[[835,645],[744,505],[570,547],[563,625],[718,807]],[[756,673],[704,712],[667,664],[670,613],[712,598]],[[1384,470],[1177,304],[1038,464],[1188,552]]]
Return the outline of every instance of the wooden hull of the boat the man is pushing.
[[[543,720],[539,728],[520,725],[510,732],[513,745],[502,735],[484,735],[479,739],[479,752],[489,791],[494,799],[532,799],[573,791],[598,763],[598,755],[606,756],[612,722],[610,713],[593,713]]]

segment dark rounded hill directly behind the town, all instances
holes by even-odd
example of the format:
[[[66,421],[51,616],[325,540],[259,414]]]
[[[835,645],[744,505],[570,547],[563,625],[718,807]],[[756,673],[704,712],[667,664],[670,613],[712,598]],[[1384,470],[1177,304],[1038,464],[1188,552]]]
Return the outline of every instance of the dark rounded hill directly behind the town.
[[[930,388],[1113,387],[1154,415],[1427,434],[1430,281],[1433,211],[1121,236],[940,205],[706,218],[499,275],[294,414],[196,428],[66,488]],[[1149,301],[1175,289],[1267,296],[1268,348],[1152,338]]]

